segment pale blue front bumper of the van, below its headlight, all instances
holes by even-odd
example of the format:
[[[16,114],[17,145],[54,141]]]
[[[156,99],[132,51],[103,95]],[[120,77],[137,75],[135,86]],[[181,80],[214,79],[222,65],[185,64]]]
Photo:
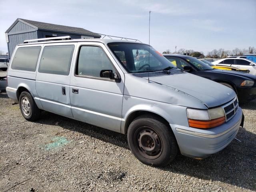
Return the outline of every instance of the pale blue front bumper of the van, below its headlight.
[[[192,158],[204,158],[224,149],[236,136],[242,121],[242,109],[228,122],[210,129],[197,129],[170,124],[180,152]]]

